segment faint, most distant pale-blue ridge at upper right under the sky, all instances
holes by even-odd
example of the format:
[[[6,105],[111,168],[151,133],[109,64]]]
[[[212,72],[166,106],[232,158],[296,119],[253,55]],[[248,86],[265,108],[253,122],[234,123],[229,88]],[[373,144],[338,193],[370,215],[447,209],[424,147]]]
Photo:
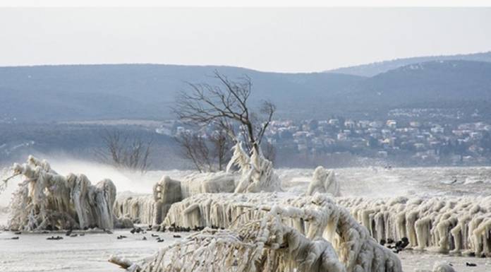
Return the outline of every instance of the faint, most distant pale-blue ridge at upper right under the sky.
[[[456,54],[447,56],[413,57],[407,59],[394,59],[391,61],[380,61],[372,64],[343,67],[326,71],[328,73],[346,73],[354,76],[375,76],[389,70],[397,69],[410,64],[418,64],[426,61],[436,60],[464,60],[464,61],[485,61],[491,62],[491,52],[475,54]]]

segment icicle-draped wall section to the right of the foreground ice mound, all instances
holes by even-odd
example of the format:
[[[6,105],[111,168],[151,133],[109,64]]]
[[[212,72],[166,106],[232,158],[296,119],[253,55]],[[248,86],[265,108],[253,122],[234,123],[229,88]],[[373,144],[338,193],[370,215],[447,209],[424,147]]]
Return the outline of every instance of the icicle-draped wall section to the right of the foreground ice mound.
[[[491,197],[337,199],[376,240],[440,253],[491,256]]]

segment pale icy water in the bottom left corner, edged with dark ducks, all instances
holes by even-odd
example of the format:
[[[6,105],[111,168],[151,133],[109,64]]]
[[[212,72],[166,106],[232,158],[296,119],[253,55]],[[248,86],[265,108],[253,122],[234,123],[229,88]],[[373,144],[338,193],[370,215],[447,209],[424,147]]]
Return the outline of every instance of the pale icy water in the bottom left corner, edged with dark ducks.
[[[73,232],[80,233],[80,232]],[[13,232],[0,233],[0,271],[57,271],[57,272],[121,272],[121,268],[107,261],[111,254],[119,254],[136,260],[153,254],[159,247],[174,243],[178,234],[186,237],[188,233],[159,232],[164,242],[147,234],[134,234],[130,230],[118,230],[114,234],[105,232],[89,233],[84,236],[67,237],[64,232],[49,234],[14,235]],[[61,236],[63,240],[46,240],[47,237]],[[119,235],[126,239],[118,240]],[[18,236],[18,240],[11,237]],[[143,236],[147,237],[143,241]]]

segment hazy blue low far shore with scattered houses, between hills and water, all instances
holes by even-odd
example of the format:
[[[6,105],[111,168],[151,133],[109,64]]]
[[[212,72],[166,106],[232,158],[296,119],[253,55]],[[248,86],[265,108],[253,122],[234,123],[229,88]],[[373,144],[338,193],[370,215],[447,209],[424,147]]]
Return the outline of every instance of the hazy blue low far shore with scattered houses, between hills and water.
[[[176,120],[113,119],[47,124],[0,120],[0,165],[53,150],[93,159],[107,131],[130,131],[152,141],[154,167],[189,168],[175,138],[183,131],[211,135]],[[491,163],[491,122],[477,110],[393,109],[363,119],[276,119],[265,139],[274,147],[276,167],[471,166]],[[265,142],[265,141],[263,141]],[[56,147],[56,148],[55,148]],[[166,155],[162,155],[166,154]]]

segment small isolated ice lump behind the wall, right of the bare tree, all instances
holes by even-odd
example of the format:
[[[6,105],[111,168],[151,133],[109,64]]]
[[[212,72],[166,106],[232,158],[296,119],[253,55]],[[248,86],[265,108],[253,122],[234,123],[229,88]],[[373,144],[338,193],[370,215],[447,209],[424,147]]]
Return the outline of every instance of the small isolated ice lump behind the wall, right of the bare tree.
[[[322,166],[315,168],[312,181],[308,185],[307,194],[312,196],[316,192],[341,196],[339,183],[333,170],[327,170]]]

